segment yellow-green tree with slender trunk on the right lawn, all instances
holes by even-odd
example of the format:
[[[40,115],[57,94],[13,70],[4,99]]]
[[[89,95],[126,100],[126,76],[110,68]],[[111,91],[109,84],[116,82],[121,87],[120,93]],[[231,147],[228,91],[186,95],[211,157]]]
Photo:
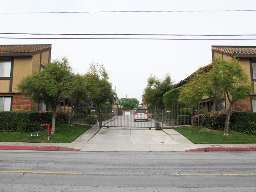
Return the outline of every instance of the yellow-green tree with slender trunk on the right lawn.
[[[180,101],[197,105],[204,96],[213,97],[226,114],[224,135],[228,135],[230,113],[234,102],[247,98],[252,92],[249,77],[245,74],[238,60],[234,57],[225,60],[221,57],[213,61],[213,67],[208,72],[199,70],[182,88]],[[229,105],[223,105],[226,98]]]

